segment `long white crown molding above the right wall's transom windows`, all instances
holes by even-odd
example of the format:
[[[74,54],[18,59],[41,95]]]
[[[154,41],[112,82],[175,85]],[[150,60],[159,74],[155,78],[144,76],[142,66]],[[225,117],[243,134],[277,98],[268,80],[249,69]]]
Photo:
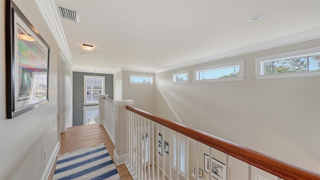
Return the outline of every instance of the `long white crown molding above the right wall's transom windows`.
[[[285,38],[281,38],[281,39],[274,40],[274,41],[269,41],[266,43],[261,43],[261,44],[254,45],[254,46],[249,46],[246,48],[242,48],[242,49],[238,49],[238,50],[234,50],[234,51],[230,51],[230,52],[226,52],[226,53],[222,53],[222,54],[218,54],[218,55],[214,55],[214,56],[209,56],[206,58],[201,58],[201,59],[189,61],[186,63],[174,65],[174,66],[170,66],[167,68],[155,70],[154,73],[160,73],[160,72],[165,72],[165,71],[183,68],[183,67],[187,67],[187,66],[193,66],[196,64],[206,63],[206,62],[210,62],[210,61],[216,61],[219,59],[239,56],[242,54],[253,53],[253,52],[257,52],[257,51],[262,51],[262,50],[266,50],[266,49],[270,49],[270,48],[276,48],[276,47],[285,46],[285,45],[289,45],[289,44],[313,40],[313,39],[317,39],[317,38],[320,38],[320,29],[306,32],[306,33],[293,35],[293,36],[289,36],[289,37],[285,37]]]

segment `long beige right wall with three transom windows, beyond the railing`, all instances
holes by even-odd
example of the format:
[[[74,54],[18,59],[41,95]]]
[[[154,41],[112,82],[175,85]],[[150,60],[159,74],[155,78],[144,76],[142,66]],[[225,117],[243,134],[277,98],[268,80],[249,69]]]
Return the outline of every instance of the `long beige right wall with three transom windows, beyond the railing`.
[[[320,77],[254,78],[254,58],[319,45],[317,39],[156,73],[155,114],[319,172]],[[193,69],[240,60],[244,60],[244,81],[194,83]],[[190,83],[172,84],[171,73],[184,70],[190,70]],[[207,151],[199,149],[200,169]],[[218,153],[213,156],[224,161]],[[194,157],[190,159],[193,171]],[[231,161],[230,179],[245,176],[244,164]]]

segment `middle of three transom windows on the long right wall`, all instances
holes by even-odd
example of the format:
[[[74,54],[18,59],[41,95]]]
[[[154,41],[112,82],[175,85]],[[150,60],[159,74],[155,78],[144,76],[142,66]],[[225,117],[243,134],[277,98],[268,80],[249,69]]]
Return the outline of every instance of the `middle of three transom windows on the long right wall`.
[[[243,80],[243,61],[220,64],[194,70],[195,82]]]

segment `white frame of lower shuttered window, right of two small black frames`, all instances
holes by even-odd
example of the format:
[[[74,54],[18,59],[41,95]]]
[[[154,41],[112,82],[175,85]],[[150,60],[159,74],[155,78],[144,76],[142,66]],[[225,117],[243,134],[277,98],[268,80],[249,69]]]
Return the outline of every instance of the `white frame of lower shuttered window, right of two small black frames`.
[[[176,140],[176,133],[172,133],[171,134],[171,144],[172,144],[172,147],[171,147],[171,149],[172,149],[172,158],[174,157],[174,153],[176,152],[176,151],[174,151],[174,140]],[[184,161],[186,161],[186,163],[189,163],[189,159],[188,159],[188,157],[189,157],[189,140],[186,140],[186,144],[185,144],[185,137],[183,138],[183,137],[181,137],[180,135],[178,135],[178,140],[177,140],[177,142],[178,142],[178,146],[179,146],[179,143],[183,143],[184,144],[184,147],[185,147],[185,159],[184,159]],[[177,146],[177,148],[179,148]],[[179,153],[180,151],[178,150],[178,153]],[[175,158],[173,158],[173,160],[172,160],[172,162],[171,162],[171,167],[174,169],[174,170],[176,170],[176,165],[174,165],[174,160],[175,160]],[[180,161],[179,161],[180,162]],[[180,167],[180,166],[179,166]],[[185,170],[185,169],[184,169]],[[185,177],[185,174],[186,174],[186,172],[182,172],[180,169],[178,170],[179,171],[179,174],[181,175],[181,176],[183,176],[183,177]]]

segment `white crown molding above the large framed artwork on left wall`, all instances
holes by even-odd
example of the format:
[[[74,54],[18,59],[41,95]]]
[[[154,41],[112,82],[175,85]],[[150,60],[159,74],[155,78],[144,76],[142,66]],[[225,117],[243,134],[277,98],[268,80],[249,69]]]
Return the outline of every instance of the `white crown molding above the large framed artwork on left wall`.
[[[72,61],[72,56],[67,45],[64,32],[61,26],[59,16],[56,12],[55,5],[53,1],[41,1],[34,0],[39,12],[41,13],[44,21],[48,25],[55,41],[60,47],[61,53],[65,60],[69,63],[72,70],[74,70],[74,65]]]

